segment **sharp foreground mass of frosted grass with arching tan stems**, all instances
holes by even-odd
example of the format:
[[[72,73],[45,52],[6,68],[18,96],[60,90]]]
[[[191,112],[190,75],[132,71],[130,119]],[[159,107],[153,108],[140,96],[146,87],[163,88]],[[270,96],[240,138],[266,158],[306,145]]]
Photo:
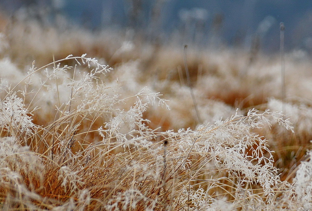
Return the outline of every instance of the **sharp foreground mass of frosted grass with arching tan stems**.
[[[121,98],[118,80],[105,76],[111,70],[85,54],[69,55],[33,65],[7,86],[0,109],[1,209],[310,208],[311,180],[301,180],[311,174],[304,170],[310,161],[293,185],[281,182],[267,140],[251,132],[275,122],[292,130],[280,113],[237,111],[194,130],[160,132],[148,127],[144,112],[169,109],[168,102],[146,87]]]

